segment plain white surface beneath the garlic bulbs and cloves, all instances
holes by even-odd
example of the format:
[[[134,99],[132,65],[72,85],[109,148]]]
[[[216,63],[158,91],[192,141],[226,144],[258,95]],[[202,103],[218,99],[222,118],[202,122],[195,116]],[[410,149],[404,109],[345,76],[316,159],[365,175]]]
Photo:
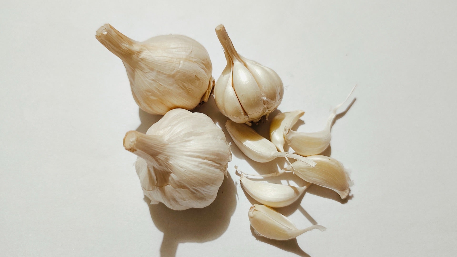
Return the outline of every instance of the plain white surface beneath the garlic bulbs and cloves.
[[[399,2],[2,1],[0,255],[456,256],[457,4]],[[310,189],[282,212],[327,231],[258,241],[233,166],[273,165],[234,146],[211,207],[149,209],[122,138],[156,118],[138,112],[121,60],[95,39],[104,23],[136,40],[190,36],[216,78],[223,23],[240,54],[282,77],[279,110],[303,109],[301,131],[322,128],[358,84],[331,143],[354,198]],[[224,122],[212,108],[197,111]]]

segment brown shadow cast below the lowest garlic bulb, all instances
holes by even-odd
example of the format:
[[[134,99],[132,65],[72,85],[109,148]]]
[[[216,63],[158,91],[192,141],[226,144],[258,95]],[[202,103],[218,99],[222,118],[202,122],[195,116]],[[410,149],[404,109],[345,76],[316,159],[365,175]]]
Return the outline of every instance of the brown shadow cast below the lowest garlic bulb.
[[[175,211],[162,203],[149,205],[154,225],[164,233],[160,257],[175,257],[180,243],[212,241],[227,230],[236,207],[236,188],[230,174],[227,175],[216,199],[205,208]],[[144,201],[150,203],[148,198]],[[207,249],[207,253],[211,251]]]

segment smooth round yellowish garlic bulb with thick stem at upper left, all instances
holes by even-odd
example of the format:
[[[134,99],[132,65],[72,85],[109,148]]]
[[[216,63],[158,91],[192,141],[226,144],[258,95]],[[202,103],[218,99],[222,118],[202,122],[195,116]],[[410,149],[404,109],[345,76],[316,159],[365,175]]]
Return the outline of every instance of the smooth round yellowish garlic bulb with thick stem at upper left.
[[[207,102],[213,66],[206,49],[192,38],[164,35],[138,42],[110,24],[99,28],[96,38],[122,59],[133,98],[143,111],[164,115]]]

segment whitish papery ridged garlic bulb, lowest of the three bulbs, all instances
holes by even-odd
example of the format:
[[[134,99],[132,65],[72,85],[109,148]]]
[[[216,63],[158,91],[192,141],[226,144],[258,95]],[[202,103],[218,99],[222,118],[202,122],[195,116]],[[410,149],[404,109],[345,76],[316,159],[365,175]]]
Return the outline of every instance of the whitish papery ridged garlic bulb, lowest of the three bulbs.
[[[203,113],[173,109],[146,134],[129,131],[126,150],[144,195],[170,209],[203,208],[214,201],[231,161],[223,131]]]

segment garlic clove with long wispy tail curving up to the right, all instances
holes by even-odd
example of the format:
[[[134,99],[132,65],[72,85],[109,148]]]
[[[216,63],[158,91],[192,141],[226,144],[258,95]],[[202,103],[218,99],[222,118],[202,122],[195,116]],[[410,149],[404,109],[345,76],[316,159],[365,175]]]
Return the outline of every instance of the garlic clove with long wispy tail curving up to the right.
[[[295,150],[296,153],[303,156],[318,155],[322,153],[329,145],[332,138],[330,131],[332,129],[333,121],[336,118],[336,111],[343,105],[351,96],[356,87],[354,86],[351,93],[346,97],[345,101],[337,105],[327,118],[327,125],[325,129],[318,132],[297,132],[290,129],[295,123],[291,123],[284,128],[284,137],[287,144]],[[297,122],[298,119],[295,120]]]

